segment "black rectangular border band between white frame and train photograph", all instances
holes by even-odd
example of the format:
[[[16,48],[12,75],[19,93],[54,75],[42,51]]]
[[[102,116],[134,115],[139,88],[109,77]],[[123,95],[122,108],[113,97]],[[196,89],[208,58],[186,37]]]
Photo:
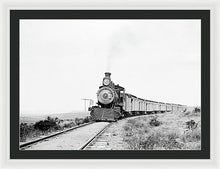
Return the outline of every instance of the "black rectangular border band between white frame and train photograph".
[[[21,151],[19,150],[20,19],[200,19],[201,150]],[[11,159],[210,159],[210,10],[10,10]]]

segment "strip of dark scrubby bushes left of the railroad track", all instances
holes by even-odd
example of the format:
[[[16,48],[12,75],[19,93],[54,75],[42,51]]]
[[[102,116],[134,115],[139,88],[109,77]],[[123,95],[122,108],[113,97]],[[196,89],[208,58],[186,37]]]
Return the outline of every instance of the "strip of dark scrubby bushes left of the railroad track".
[[[88,123],[91,121],[90,117],[65,119],[52,118],[48,116],[44,120],[39,120],[35,123],[21,123],[20,124],[20,142],[31,141],[54,132],[59,132],[76,125]]]

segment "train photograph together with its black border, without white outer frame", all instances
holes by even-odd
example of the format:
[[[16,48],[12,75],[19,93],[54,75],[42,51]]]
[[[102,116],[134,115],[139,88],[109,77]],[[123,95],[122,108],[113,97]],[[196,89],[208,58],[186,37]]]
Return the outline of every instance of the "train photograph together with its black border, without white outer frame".
[[[210,159],[210,10],[11,10],[11,159]]]

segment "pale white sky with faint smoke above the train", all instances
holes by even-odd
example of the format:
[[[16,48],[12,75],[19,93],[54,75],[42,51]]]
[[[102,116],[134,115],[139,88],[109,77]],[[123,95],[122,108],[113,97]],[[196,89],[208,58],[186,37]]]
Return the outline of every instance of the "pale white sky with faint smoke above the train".
[[[137,97],[200,106],[200,20],[20,20],[21,114],[84,111],[107,71]]]

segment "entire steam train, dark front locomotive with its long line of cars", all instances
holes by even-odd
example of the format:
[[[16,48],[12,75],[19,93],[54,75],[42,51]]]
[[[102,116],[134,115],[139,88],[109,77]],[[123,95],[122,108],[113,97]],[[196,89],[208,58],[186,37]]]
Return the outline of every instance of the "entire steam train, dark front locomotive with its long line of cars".
[[[110,76],[111,73],[105,73],[103,85],[97,92],[98,103],[89,108],[94,121],[117,121],[126,116],[184,111],[187,108],[185,105],[145,100],[125,93],[125,89],[115,85]]]

